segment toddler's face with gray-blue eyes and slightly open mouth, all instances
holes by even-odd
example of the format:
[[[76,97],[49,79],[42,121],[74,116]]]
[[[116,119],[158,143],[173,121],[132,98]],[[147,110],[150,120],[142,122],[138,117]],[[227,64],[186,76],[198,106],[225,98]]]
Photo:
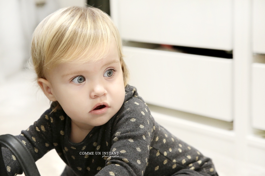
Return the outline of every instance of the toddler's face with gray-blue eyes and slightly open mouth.
[[[52,94],[82,129],[105,124],[123,104],[125,88],[115,42],[107,57],[84,64],[60,64],[51,75]]]

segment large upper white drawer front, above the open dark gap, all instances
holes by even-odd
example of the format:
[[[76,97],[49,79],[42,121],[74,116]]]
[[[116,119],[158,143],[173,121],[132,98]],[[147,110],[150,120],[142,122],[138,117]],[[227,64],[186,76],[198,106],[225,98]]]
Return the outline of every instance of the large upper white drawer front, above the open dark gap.
[[[124,40],[232,50],[232,0],[112,0]]]

